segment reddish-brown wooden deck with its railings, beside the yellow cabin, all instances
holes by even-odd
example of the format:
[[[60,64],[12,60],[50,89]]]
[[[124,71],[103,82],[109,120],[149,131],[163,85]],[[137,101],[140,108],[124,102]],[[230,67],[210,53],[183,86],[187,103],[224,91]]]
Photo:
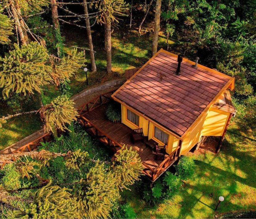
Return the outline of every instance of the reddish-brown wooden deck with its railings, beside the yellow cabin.
[[[152,149],[147,147],[144,142],[131,141],[131,131],[129,127],[121,122],[113,123],[105,116],[105,111],[110,98],[106,95],[99,97],[90,102],[91,105],[81,106],[79,122],[88,132],[98,137],[104,144],[113,149],[114,152],[119,150],[123,144],[136,150],[143,162],[145,169],[143,173],[154,182],[163,172],[165,172],[177,159],[177,147],[170,155],[165,155],[164,160],[155,160]],[[85,107],[86,106],[86,107]],[[84,110],[86,108],[86,110]]]

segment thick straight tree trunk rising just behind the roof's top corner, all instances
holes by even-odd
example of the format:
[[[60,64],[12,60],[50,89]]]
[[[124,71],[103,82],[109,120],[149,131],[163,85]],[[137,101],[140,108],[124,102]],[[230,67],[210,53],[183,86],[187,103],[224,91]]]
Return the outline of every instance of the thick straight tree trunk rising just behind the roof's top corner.
[[[162,3],[161,0],[156,0],[156,13],[155,13],[155,21],[154,21],[152,55],[154,55],[157,52],[158,33],[159,33],[159,28],[160,28],[161,3]]]

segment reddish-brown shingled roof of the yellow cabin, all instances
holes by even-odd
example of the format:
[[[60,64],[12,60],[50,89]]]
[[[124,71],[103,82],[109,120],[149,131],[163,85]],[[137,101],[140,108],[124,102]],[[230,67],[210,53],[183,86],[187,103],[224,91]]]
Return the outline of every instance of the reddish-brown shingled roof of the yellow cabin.
[[[113,99],[126,103],[178,136],[199,120],[234,79],[183,59],[176,75],[177,55],[160,50],[126,81]]]

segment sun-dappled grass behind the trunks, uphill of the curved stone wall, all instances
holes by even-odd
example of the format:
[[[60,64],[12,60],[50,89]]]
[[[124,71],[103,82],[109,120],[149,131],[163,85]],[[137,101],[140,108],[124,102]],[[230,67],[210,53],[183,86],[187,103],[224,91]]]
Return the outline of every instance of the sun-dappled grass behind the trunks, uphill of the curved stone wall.
[[[63,30],[63,35],[66,38],[65,43],[67,45],[88,48],[86,32],[84,30],[69,27]],[[123,77],[125,69],[142,66],[151,57],[150,37],[146,35],[139,37],[138,32],[135,30],[131,30],[124,38],[119,33],[114,33],[112,37],[112,70],[114,75],[109,77],[105,71],[106,56],[103,50],[104,43],[98,32],[93,33],[92,37],[94,39],[98,72],[96,74],[90,74],[88,72],[89,86]],[[165,44],[165,38],[162,32],[160,33],[159,43],[159,47],[163,47]],[[70,48],[72,47],[66,46],[65,50],[67,51]],[[86,53],[85,58],[87,60],[87,68],[90,70],[89,53]],[[86,77],[82,69],[71,80],[70,87],[73,95],[87,87]],[[53,98],[60,95],[58,89],[53,85],[48,86],[45,90],[43,95],[44,104],[50,103]],[[11,108],[6,107],[5,104],[0,104],[0,116],[7,114],[13,114]],[[16,117],[9,120],[8,123],[3,124],[2,128],[0,128],[0,150],[39,130],[41,126],[42,124],[38,115]]]

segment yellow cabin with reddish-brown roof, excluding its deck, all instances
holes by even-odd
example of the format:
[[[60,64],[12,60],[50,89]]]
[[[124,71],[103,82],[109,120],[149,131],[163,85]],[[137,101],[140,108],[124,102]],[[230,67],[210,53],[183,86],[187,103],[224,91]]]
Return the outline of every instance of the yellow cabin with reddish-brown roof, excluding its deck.
[[[179,156],[201,136],[222,136],[236,110],[229,90],[234,78],[161,49],[112,98],[121,103],[122,123],[142,128],[159,146]]]

